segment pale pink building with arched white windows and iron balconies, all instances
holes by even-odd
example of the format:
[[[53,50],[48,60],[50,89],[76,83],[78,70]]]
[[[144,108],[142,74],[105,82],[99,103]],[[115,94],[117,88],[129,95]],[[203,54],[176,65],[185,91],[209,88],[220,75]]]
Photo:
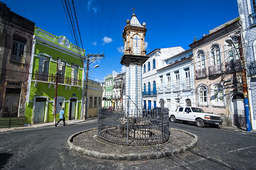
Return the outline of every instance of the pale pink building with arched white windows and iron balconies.
[[[189,46],[193,48],[197,107],[221,115],[224,126],[244,127],[244,119],[239,119],[244,117],[239,24],[239,18],[233,19]],[[234,44],[228,44],[227,38]]]

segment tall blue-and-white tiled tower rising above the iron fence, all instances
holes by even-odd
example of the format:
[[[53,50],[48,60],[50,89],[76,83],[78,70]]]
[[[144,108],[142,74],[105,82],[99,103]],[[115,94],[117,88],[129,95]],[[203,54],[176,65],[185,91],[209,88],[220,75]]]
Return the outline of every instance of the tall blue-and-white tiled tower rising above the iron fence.
[[[142,114],[142,64],[149,58],[145,50],[146,23],[141,25],[136,17],[132,14],[132,19],[126,20],[122,35],[124,55],[121,64],[126,66],[125,94],[126,99],[130,99],[129,114]]]

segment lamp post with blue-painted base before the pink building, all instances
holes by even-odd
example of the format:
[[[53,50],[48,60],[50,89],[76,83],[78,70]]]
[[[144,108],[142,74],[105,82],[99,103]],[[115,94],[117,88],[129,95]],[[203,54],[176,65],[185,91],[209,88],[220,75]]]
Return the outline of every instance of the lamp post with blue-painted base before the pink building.
[[[225,40],[228,44],[233,44],[234,48],[236,49],[237,55],[238,51],[236,46],[234,45],[234,41],[232,38],[227,38]],[[246,119],[246,131],[251,132],[251,122],[250,122],[250,114],[249,114],[249,101],[248,101],[248,92],[247,92],[247,84],[246,84],[246,71],[245,71],[245,65],[244,65],[244,60],[243,60],[243,51],[242,51],[242,43],[241,43],[241,37],[238,38],[238,44],[239,44],[239,54],[240,54],[240,61],[241,61],[241,66],[242,66],[242,83],[243,83],[243,98],[244,98],[244,114],[245,114],[245,119]]]

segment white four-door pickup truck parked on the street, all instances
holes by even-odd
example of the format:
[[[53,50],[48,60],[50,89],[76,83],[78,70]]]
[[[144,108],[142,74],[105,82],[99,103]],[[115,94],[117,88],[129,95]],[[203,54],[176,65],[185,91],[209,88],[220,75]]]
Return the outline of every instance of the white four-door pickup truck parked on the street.
[[[204,110],[197,107],[178,106],[176,111],[169,111],[169,120],[172,123],[176,121],[182,121],[183,123],[196,122],[196,126],[200,128],[205,127],[205,124],[218,128],[219,124],[222,124],[220,116],[205,113]]]

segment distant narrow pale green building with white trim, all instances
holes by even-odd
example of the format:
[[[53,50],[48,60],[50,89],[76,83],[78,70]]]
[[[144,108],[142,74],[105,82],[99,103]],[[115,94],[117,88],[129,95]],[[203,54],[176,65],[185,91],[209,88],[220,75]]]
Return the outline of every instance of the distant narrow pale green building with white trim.
[[[110,107],[113,106],[113,80],[114,80],[114,74],[110,74],[105,76],[105,95],[104,97],[107,98],[107,100],[104,100],[104,107]]]

